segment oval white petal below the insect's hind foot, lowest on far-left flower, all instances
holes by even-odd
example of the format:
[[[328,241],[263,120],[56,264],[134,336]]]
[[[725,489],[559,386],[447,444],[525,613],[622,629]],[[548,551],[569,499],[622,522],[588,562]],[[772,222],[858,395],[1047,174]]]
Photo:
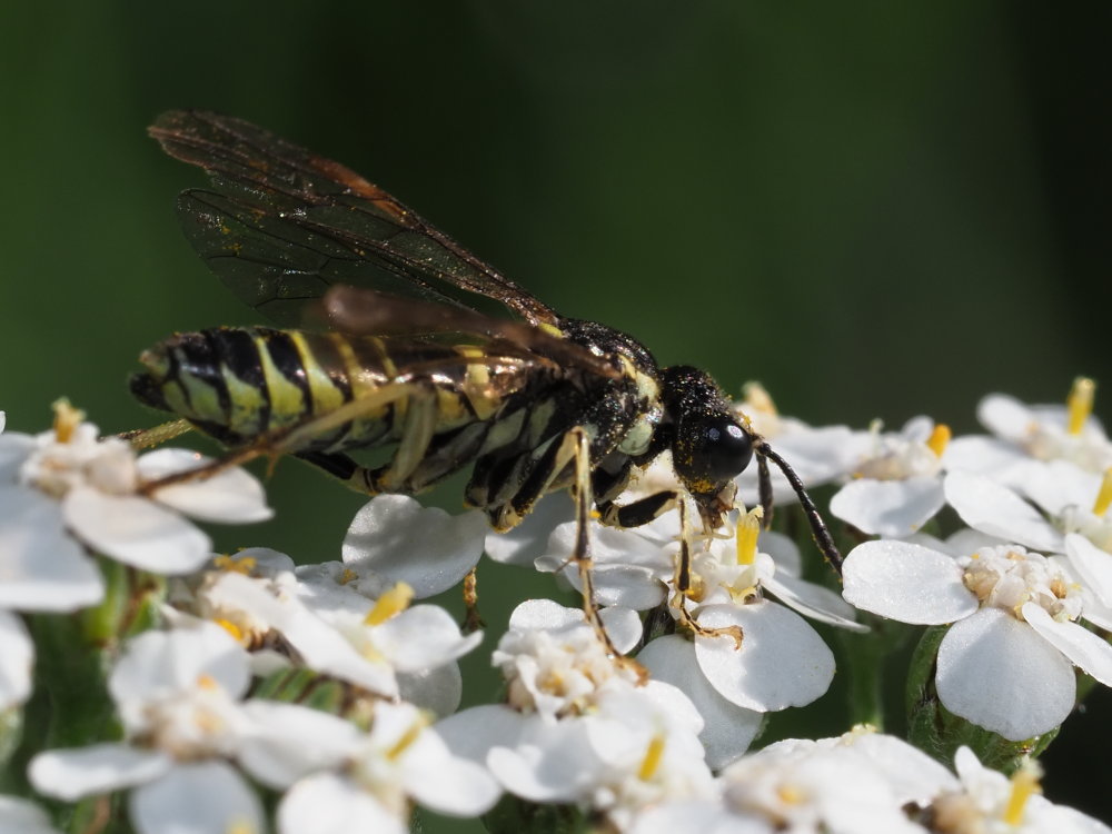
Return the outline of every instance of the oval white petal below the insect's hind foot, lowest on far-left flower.
[[[142,570],[188,574],[203,565],[209,537],[169,509],[136,496],[71,489],[62,503],[66,523],[98,553]]]

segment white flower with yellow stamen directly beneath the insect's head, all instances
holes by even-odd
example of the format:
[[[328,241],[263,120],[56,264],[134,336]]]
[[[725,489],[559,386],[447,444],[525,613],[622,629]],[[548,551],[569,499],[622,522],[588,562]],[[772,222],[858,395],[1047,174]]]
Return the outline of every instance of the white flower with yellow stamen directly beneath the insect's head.
[[[596,598],[638,609],[668,599],[667,610],[681,629],[697,624],[694,641],[657,638],[638,661],[683,689],[707,717],[702,741],[715,767],[745,751],[759,727],[759,713],[803,706],[830,686],[834,656],[795,612],[863,628],[837,594],[798,578],[798,549],[786,536],[761,533],[758,514],[754,510],[728,533],[702,540],[683,595],[675,586],[678,513],[636,529],[592,527]],[[538,564],[566,565],[574,537],[574,522],[557,527]],[[564,575],[579,587],[576,572],[565,569]],[[679,612],[681,600],[686,614]],[[715,631],[733,636],[711,636]],[[739,646],[736,635],[744,635]]]

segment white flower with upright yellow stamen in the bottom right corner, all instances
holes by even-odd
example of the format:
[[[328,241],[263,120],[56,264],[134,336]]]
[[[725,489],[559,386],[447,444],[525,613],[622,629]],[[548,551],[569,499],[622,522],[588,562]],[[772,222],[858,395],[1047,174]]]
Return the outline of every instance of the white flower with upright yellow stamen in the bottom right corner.
[[[1035,763],[1021,766],[1011,778],[982,765],[969,747],[954,757],[960,785],[930,804],[935,830],[984,834],[1108,834],[1106,825],[1040,795]]]

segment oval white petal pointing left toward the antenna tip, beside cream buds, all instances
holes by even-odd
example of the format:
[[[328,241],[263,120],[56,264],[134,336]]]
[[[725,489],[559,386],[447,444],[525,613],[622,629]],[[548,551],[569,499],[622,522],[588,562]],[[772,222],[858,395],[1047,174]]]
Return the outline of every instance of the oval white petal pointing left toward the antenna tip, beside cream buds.
[[[866,542],[842,565],[842,596],[901,623],[952,623],[977,609],[950,556],[905,542]]]

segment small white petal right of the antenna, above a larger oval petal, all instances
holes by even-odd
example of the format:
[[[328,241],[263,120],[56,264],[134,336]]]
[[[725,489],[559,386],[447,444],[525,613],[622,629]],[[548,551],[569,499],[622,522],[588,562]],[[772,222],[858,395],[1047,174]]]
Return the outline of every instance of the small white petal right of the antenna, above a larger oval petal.
[[[861,478],[831,498],[831,514],[865,533],[897,538],[915,533],[945,504],[936,477]]]

